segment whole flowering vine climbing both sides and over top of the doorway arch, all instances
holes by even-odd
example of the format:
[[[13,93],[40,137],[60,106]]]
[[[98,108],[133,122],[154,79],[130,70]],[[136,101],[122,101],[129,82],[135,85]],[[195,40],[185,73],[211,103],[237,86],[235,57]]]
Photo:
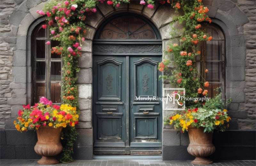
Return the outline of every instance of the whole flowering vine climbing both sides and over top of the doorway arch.
[[[79,72],[77,62],[82,54],[82,43],[85,41],[87,32],[85,20],[90,17],[90,15],[97,12],[96,6],[100,3],[107,3],[108,5],[119,7],[121,3],[129,2],[130,0],[50,0],[45,5],[43,11],[37,11],[38,14],[47,16],[47,23],[42,27],[45,29],[49,26],[51,39],[60,41],[60,45],[52,47],[51,51],[52,53],[60,55],[63,60],[61,82],[61,97],[63,103],[78,107],[76,73]],[[172,75],[164,75],[162,77],[164,79],[174,79],[175,84],[177,83],[177,87],[185,87],[186,89],[189,86],[198,87],[199,79],[194,77],[196,68],[192,68],[190,64],[193,64],[195,56],[199,54],[196,44],[208,38],[208,35],[200,30],[201,25],[198,24],[198,22],[201,21],[211,21],[211,19],[205,15],[208,9],[203,7],[201,0],[172,0],[171,2],[170,0],[160,0],[157,2],[162,5],[165,3],[172,4],[176,11],[182,8],[184,15],[176,19],[186,23],[182,30],[184,37],[182,37],[180,45],[175,44],[169,46],[166,51],[166,53],[174,54],[177,68],[173,71]],[[140,4],[146,5],[150,9],[154,8],[153,0],[141,0]],[[206,35],[206,37],[204,35]],[[208,40],[209,39],[210,38],[208,38]],[[51,41],[47,41],[45,44],[50,45]],[[182,54],[182,57],[180,57],[179,54]],[[184,65],[185,62],[187,65]],[[166,67],[168,63],[169,61],[167,60],[160,63],[159,70],[168,70]],[[188,94],[188,91],[186,93]],[[196,95],[196,93],[193,93],[192,89],[191,94]],[[73,161],[73,146],[77,134],[74,127],[70,127],[69,130],[63,132],[64,148],[61,162]]]

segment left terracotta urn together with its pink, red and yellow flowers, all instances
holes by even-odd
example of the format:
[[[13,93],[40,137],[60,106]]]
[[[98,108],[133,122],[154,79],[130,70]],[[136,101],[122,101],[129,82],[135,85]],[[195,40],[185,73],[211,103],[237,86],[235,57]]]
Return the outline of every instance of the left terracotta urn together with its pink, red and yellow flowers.
[[[23,107],[24,109],[19,110],[19,117],[14,121],[14,125],[20,132],[28,129],[36,130],[38,141],[34,149],[37,154],[42,155],[37,163],[59,163],[52,156],[58,155],[63,149],[60,143],[62,128],[74,127],[78,124],[79,115],[76,113],[76,107],[68,104],[52,105],[52,102],[45,97],[41,97],[40,102],[34,106],[30,107],[28,104]]]

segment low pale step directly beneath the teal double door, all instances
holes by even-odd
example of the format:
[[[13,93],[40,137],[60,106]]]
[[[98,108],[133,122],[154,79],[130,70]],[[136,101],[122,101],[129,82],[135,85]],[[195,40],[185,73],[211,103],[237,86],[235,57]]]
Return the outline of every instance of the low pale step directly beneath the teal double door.
[[[94,155],[93,160],[155,160],[162,161],[162,155]]]

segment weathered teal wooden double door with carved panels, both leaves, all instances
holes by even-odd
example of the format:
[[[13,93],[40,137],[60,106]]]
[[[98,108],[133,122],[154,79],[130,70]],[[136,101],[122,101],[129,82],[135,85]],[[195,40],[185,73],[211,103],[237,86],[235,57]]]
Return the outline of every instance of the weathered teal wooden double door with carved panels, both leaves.
[[[93,56],[94,154],[161,154],[161,60],[161,55]]]

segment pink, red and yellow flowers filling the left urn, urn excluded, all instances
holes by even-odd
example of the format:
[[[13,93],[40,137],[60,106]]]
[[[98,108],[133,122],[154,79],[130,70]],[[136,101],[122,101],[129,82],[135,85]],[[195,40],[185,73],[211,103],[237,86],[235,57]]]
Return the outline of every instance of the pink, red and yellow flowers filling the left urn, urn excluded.
[[[24,109],[19,110],[18,120],[14,121],[16,129],[20,132],[28,129],[38,129],[40,126],[67,127],[78,124],[78,114],[76,107],[68,104],[61,106],[52,105],[52,102],[45,97],[40,98],[40,102],[34,106],[23,105]]]

